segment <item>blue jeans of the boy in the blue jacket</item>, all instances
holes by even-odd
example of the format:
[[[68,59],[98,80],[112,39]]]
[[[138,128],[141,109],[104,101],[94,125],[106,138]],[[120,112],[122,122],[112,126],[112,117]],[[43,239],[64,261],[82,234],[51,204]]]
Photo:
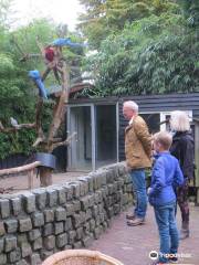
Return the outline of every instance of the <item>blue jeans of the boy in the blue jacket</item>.
[[[176,202],[161,206],[154,206],[156,222],[159,230],[160,248],[159,262],[167,263],[169,254],[176,254],[179,245],[179,235],[175,218]]]

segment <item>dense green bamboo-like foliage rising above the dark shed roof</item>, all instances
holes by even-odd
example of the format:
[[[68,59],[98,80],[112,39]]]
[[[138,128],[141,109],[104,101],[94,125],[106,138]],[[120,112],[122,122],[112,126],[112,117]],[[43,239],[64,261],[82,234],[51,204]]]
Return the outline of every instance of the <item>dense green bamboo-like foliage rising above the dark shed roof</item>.
[[[87,65],[102,96],[197,92],[198,47],[181,15],[150,15],[108,36]]]

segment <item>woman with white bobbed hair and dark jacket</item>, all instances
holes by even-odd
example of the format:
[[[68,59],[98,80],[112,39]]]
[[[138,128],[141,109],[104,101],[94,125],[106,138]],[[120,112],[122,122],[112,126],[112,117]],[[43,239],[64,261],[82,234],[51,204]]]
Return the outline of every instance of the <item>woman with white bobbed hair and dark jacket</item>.
[[[177,190],[177,202],[181,212],[180,240],[189,236],[189,180],[193,178],[195,171],[195,144],[190,132],[189,117],[185,112],[175,110],[170,116],[170,128],[174,131],[170,153],[180,163],[185,183]]]

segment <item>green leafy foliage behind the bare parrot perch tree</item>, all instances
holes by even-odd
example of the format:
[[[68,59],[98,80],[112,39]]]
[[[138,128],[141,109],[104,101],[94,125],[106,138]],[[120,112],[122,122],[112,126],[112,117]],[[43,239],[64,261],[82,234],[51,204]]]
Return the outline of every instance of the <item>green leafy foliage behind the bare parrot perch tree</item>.
[[[0,4],[1,9],[1,4]],[[10,117],[14,117],[19,124],[35,121],[35,104],[38,88],[28,77],[30,70],[44,71],[45,65],[41,56],[20,62],[24,54],[40,54],[36,38],[45,46],[54,39],[70,36],[74,42],[82,42],[82,38],[72,34],[66,26],[56,25],[44,19],[34,20],[29,25],[15,31],[8,31],[6,26],[0,28],[0,121],[4,127],[11,127]],[[71,65],[80,66],[84,51],[82,47],[66,47],[64,55]],[[72,77],[80,74],[80,70],[72,73]],[[57,85],[55,78],[50,74],[46,78],[46,88]],[[49,130],[52,121],[53,103],[48,100],[43,108],[43,130]],[[17,132],[0,132],[0,159],[11,153],[25,153],[33,151],[32,144],[35,140],[34,129],[22,129]]]

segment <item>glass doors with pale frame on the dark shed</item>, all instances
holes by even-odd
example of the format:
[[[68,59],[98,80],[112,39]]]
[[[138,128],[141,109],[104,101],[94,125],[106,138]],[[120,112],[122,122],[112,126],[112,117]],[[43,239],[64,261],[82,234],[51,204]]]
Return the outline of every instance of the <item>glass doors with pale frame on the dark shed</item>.
[[[116,105],[70,106],[69,135],[76,136],[67,146],[70,170],[91,171],[117,162]]]

